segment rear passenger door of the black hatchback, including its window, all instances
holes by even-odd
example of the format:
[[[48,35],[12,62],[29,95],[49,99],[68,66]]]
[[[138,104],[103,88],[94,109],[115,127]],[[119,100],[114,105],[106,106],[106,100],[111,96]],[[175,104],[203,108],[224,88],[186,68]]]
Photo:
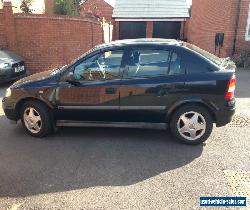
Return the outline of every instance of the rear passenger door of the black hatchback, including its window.
[[[135,46],[125,53],[120,110],[125,121],[164,122],[168,107],[183,92],[185,74],[177,49]]]

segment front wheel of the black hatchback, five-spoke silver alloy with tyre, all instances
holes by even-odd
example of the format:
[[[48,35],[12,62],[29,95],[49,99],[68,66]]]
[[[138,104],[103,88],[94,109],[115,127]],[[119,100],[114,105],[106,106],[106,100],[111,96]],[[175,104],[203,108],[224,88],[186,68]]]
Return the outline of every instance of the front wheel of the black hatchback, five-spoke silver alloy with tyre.
[[[38,101],[25,102],[20,111],[26,132],[34,137],[44,137],[53,130],[53,117],[49,108]]]

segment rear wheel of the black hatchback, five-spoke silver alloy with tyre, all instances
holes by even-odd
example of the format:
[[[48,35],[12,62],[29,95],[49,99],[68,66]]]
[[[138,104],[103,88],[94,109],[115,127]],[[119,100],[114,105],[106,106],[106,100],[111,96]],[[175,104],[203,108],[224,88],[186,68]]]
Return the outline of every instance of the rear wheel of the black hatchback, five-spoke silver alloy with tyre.
[[[196,145],[209,138],[213,130],[213,120],[206,108],[185,105],[174,112],[170,120],[170,130],[181,143]]]

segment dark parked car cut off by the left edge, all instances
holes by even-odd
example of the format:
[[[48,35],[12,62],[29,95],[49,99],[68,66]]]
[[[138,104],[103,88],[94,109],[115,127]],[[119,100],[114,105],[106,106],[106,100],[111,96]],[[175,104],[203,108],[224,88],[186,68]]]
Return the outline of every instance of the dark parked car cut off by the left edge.
[[[24,60],[11,51],[0,50],[0,83],[18,80],[24,76]]]

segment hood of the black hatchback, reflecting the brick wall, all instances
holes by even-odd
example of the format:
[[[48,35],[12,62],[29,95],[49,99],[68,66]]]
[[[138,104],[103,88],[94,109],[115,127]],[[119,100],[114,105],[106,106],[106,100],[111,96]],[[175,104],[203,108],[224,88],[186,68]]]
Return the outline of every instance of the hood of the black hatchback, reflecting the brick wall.
[[[53,76],[53,74],[52,74],[53,71],[54,70],[43,71],[40,73],[32,74],[28,77],[24,77],[23,79],[20,79],[17,82],[15,82],[11,87],[18,88],[18,87],[25,85],[27,83],[33,83],[33,82],[46,80],[46,79],[51,78]]]

